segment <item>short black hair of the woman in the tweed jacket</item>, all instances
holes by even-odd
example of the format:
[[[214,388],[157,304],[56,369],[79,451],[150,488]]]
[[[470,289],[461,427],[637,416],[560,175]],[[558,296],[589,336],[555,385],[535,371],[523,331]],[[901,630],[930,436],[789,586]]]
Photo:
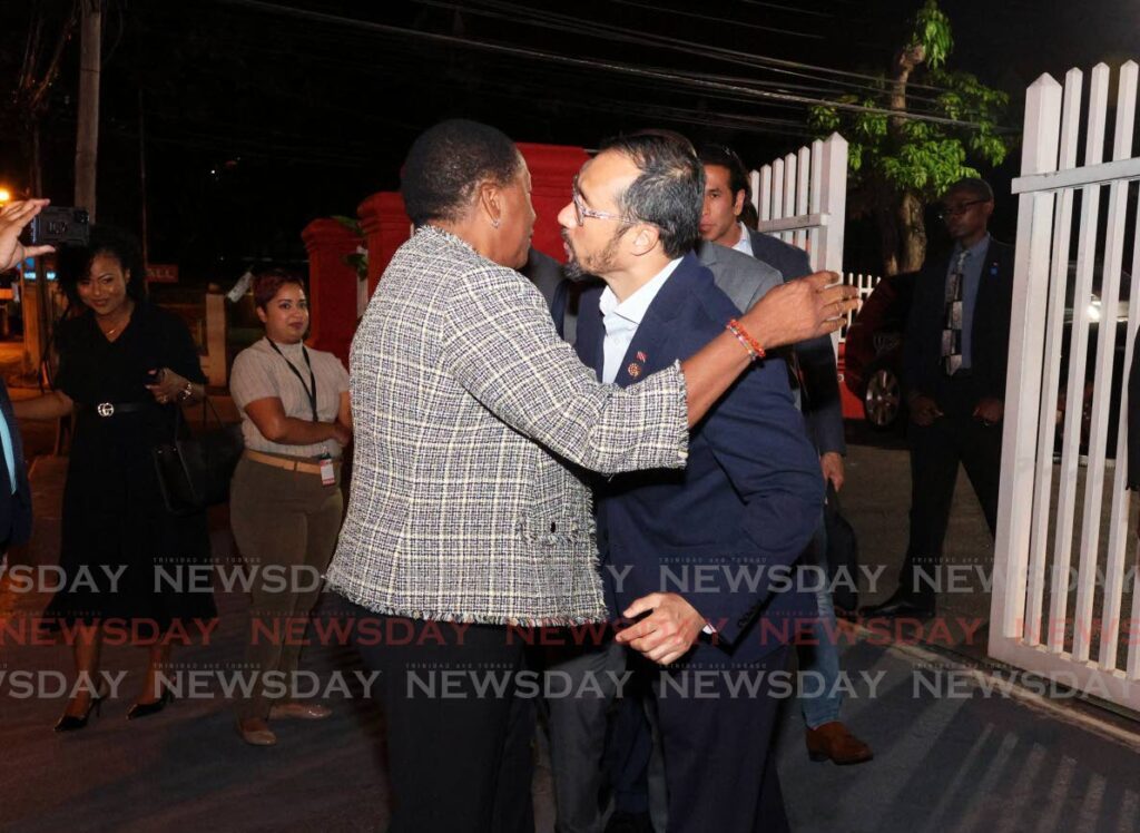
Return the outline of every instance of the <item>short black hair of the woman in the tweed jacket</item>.
[[[519,173],[520,160],[502,130],[466,119],[441,121],[412,143],[404,161],[404,210],[416,226],[457,220],[479,183],[506,185]]]

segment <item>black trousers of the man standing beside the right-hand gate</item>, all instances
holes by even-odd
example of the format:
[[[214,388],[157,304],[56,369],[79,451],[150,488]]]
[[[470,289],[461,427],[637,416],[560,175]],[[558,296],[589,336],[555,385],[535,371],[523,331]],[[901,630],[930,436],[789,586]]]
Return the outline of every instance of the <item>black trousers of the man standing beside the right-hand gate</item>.
[[[939,402],[942,405],[942,402]],[[985,512],[990,533],[997,527],[1002,426],[984,426],[972,409],[943,406],[930,426],[909,427],[911,451],[911,531],[906,560],[898,575],[903,595],[933,606],[939,580],[942,545],[950,523],[959,463]],[[944,587],[944,584],[943,584]]]

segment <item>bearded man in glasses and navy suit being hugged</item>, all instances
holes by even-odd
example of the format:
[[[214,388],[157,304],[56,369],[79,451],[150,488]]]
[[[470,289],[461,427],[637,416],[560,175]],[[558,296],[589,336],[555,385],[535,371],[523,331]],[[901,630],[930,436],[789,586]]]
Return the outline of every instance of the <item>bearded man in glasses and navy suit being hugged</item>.
[[[739,314],[691,251],[702,193],[697,155],[661,136],[618,139],[583,167],[559,221],[568,269],[605,282],[583,296],[576,342],[602,380],[636,383]],[[662,666],[653,690],[670,831],[787,827],[767,754],[772,687],[797,622],[815,614],[792,565],[822,498],[787,367],[771,357],[692,430],[684,471],[597,486],[605,590],[637,620],[617,640]]]

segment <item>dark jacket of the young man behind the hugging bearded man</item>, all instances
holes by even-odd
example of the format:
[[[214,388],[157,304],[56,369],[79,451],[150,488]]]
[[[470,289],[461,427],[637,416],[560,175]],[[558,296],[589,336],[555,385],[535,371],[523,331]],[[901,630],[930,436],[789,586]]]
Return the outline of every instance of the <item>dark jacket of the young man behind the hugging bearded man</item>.
[[[812,274],[812,262],[803,249],[784,243],[763,232],[749,232],[752,256],[780,270],[784,281]],[[844,437],[844,405],[839,395],[839,372],[830,335],[800,341],[795,347],[803,374],[804,396],[800,407],[807,429],[821,454],[847,453]]]

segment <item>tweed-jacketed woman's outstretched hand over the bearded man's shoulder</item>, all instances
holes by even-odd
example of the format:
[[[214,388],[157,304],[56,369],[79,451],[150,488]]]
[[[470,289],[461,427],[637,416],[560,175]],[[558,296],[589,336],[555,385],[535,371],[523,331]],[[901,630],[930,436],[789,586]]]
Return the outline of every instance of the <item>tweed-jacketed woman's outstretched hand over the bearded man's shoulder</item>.
[[[740,323],[765,350],[826,335],[858,306],[858,291],[838,281],[834,272],[816,272],[774,286]]]

